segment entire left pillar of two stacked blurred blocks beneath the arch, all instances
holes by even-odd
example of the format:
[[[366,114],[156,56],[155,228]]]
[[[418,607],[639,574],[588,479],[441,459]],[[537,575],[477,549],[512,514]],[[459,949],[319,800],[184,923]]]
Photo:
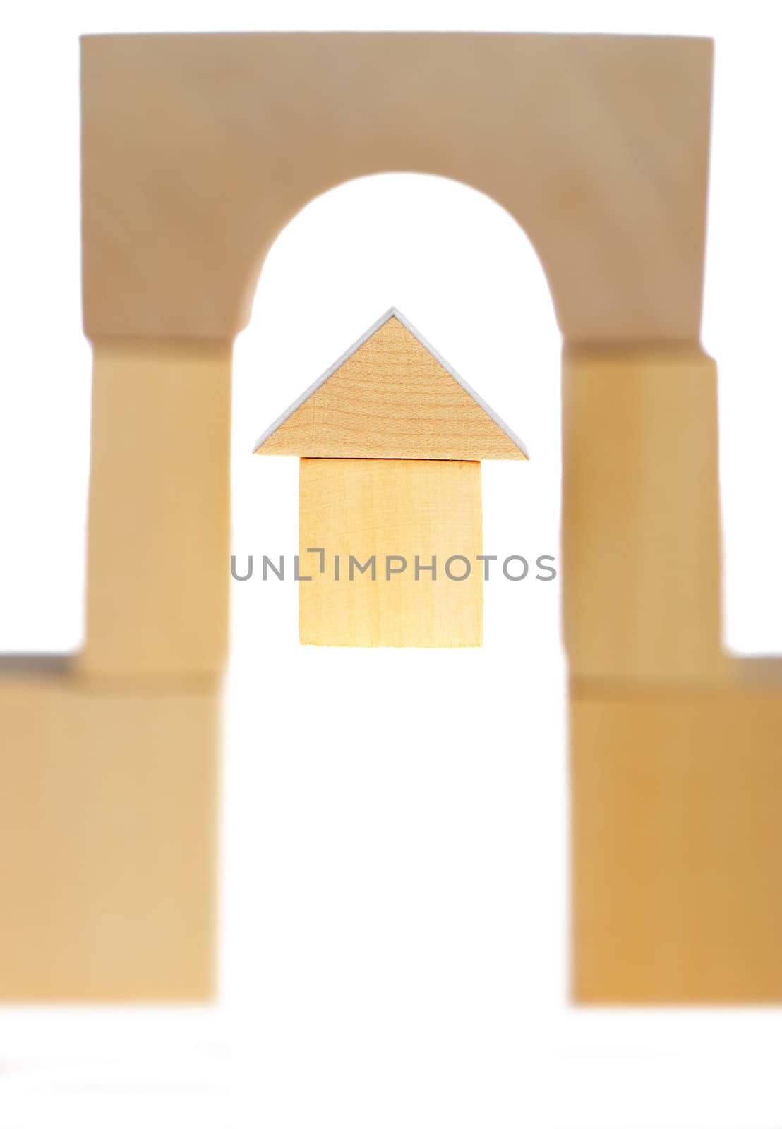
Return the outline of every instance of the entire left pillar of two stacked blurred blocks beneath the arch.
[[[214,994],[231,353],[95,343],[85,648],[0,669],[0,999]]]

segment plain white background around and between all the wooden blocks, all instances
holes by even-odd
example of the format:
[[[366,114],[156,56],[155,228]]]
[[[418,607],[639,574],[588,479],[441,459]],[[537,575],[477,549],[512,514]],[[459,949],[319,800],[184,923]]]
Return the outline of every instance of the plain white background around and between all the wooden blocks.
[[[721,362],[727,633],[738,649],[782,649],[774,15],[753,3],[730,15],[713,3],[17,10],[0,69],[0,649],[67,650],[81,634],[77,35],[321,27],[716,35],[704,342]],[[267,259],[235,353],[240,564],[296,544],[295,461],[253,458],[254,438],[392,304],[531,449],[529,464],[485,464],[486,551],[558,555],[559,340],[540,266],[485,196],[388,176],[313,201]],[[492,581],[486,646],[448,653],[299,648],[293,584],[232,592],[220,1005],[0,1012],[0,1129],[782,1121],[776,1010],[567,1006],[558,581]]]

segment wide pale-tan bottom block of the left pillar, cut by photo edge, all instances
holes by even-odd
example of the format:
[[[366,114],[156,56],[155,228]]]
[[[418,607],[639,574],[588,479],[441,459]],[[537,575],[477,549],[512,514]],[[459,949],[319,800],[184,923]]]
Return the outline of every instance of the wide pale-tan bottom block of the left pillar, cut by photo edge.
[[[0,1000],[209,999],[217,699],[0,677]]]

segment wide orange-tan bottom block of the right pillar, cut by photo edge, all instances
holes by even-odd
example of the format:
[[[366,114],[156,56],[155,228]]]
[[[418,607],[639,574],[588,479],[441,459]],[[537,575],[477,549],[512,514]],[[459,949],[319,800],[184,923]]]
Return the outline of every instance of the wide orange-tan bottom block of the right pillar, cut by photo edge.
[[[573,995],[782,1003],[782,682],[575,688]]]

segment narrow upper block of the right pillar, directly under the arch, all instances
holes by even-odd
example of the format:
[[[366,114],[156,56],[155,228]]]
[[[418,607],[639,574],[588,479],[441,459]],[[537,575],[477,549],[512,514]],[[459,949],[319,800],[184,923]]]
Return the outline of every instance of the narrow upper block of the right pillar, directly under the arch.
[[[574,677],[720,675],[716,368],[696,347],[567,349],[563,624]]]

